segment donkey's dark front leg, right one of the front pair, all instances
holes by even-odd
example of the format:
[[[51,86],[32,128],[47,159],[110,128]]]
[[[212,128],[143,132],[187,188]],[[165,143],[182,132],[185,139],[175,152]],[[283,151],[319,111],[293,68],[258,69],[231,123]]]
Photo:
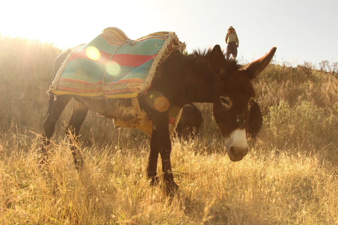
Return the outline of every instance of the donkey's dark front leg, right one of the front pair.
[[[178,189],[174,181],[174,176],[171,170],[170,152],[171,141],[169,136],[169,119],[165,112],[156,112],[153,118],[153,130],[151,134],[151,142],[155,139],[155,143],[151,144],[151,147],[159,149],[162,159],[162,171],[163,179],[166,184],[168,192]],[[150,149],[150,152],[153,149]]]

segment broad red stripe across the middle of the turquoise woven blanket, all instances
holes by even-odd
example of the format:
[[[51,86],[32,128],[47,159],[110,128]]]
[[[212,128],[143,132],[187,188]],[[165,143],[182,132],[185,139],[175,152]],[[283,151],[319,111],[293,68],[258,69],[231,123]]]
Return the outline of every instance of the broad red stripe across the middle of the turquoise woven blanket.
[[[98,62],[100,64],[106,64],[110,57],[112,56],[110,53],[106,53],[103,51],[100,51],[100,59],[98,59],[95,62]],[[120,66],[131,66],[131,67],[138,67],[140,65],[143,65],[144,63],[148,62],[150,59],[154,59],[157,54],[154,55],[130,55],[130,54],[115,54],[112,58],[112,61],[117,62]],[[69,56],[68,60],[73,59],[88,59],[91,60],[86,55],[86,49],[80,51],[80,52],[74,52]]]

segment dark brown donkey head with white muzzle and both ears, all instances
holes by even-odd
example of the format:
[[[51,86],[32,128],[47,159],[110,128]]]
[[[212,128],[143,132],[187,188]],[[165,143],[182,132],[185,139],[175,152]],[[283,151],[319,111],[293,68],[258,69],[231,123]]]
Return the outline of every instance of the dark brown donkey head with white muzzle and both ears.
[[[225,60],[218,45],[211,52],[211,67],[218,75],[213,99],[213,113],[225,141],[226,151],[232,161],[240,161],[248,152],[246,128],[250,103],[255,90],[250,82],[270,63],[276,47],[245,68],[233,60]]]

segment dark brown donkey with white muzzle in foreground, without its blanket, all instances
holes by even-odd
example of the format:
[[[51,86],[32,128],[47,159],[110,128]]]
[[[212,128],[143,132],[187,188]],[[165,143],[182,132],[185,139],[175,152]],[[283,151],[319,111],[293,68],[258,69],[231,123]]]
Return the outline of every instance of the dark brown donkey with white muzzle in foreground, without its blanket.
[[[273,47],[268,54],[245,68],[233,60],[225,60],[219,45],[203,54],[195,52],[185,56],[177,51],[168,57],[162,64],[161,76],[146,95],[138,97],[141,110],[147,113],[153,124],[147,167],[147,175],[152,183],[158,179],[156,167],[160,153],[167,189],[178,188],[171,171],[168,113],[191,102],[213,103],[213,114],[223,134],[229,158],[232,161],[243,159],[248,152],[245,128],[248,125],[250,102],[255,97],[250,80],[256,78],[270,63],[275,51]],[[61,66],[66,55],[57,59],[56,67]],[[166,99],[169,103],[167,109],[158,111],[153,107],[151,98],[154,93]],[[88,109],[124,121],[137,116],[129,99],[95,100],[77,95],[58,95],[54,99],[54,96],[50,96],[48,115],[43,124],[43,157],[47,156],[46,146],[54,132],[55,123],[72,98],[77,104],[73,104],[68,128],[75,136],[75,141]],[[75,164],[81,166],[83,161],[78,149],[74,147],[72,150]]]

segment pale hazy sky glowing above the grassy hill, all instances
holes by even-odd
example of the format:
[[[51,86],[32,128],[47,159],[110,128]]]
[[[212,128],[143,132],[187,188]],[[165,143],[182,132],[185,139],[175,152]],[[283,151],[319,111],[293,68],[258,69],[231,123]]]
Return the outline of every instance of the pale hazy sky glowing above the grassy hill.
[[[69,48],[106,27],[130,39],[174,31],[188,52],[219,44],[229,26],[239,38],[238,56],[256,59],[277,47],[276,61],[293,65],[338,61],[338,0],[95,0],[5,1],[0,33]]]

